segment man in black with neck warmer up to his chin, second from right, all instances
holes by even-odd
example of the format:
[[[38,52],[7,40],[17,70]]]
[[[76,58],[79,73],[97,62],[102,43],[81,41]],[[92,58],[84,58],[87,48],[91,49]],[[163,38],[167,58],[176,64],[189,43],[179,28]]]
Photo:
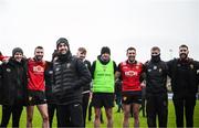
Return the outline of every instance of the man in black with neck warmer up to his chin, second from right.
[[[160,58],[160,49],[150,50],[151,58],[145,64],[146,74],[146,111],[148,127],[167,127],[168,97],[167,97],[167,64]]]

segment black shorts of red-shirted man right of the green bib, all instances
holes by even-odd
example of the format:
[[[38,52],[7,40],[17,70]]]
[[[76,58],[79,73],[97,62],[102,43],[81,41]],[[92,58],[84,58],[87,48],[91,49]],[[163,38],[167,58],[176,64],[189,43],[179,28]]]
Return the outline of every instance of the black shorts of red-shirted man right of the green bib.
[[[142,92],[123,92],[122,103],[125,105],[142,104]]]

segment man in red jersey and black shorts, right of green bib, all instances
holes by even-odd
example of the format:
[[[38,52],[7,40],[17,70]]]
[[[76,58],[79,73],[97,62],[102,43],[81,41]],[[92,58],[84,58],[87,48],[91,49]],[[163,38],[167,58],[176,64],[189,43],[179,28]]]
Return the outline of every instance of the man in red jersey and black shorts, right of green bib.
[[[143,64],[135,60],[136,49],[128,47],[126,61],[119,63],[118,75],[122,81],[123,127],[129,127],[130,105],[133,105],[134,127],[139,127],[139,106],[142,104]]]

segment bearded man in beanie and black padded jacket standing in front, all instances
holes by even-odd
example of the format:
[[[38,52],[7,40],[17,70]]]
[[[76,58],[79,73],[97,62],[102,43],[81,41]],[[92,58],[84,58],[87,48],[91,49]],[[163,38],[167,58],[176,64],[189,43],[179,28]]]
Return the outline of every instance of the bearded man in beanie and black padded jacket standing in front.
[[[57,104],[60,127],[83,127],[82,87],[92,78],[85,64],[73,57],[66,39],[56,41],[57,57],[53,62],[53,95]]]

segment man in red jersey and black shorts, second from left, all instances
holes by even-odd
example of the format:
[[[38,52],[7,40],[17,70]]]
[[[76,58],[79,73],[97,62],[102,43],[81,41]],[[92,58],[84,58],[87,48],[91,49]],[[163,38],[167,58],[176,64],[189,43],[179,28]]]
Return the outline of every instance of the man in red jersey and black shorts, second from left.
[[[36,105],[43,119],[42,127],[49,128],[48,105],[45,98],[43,47],[36,46],[34,57],[28,60],[28,107],[27,127],[32,127],[34,105]]]

